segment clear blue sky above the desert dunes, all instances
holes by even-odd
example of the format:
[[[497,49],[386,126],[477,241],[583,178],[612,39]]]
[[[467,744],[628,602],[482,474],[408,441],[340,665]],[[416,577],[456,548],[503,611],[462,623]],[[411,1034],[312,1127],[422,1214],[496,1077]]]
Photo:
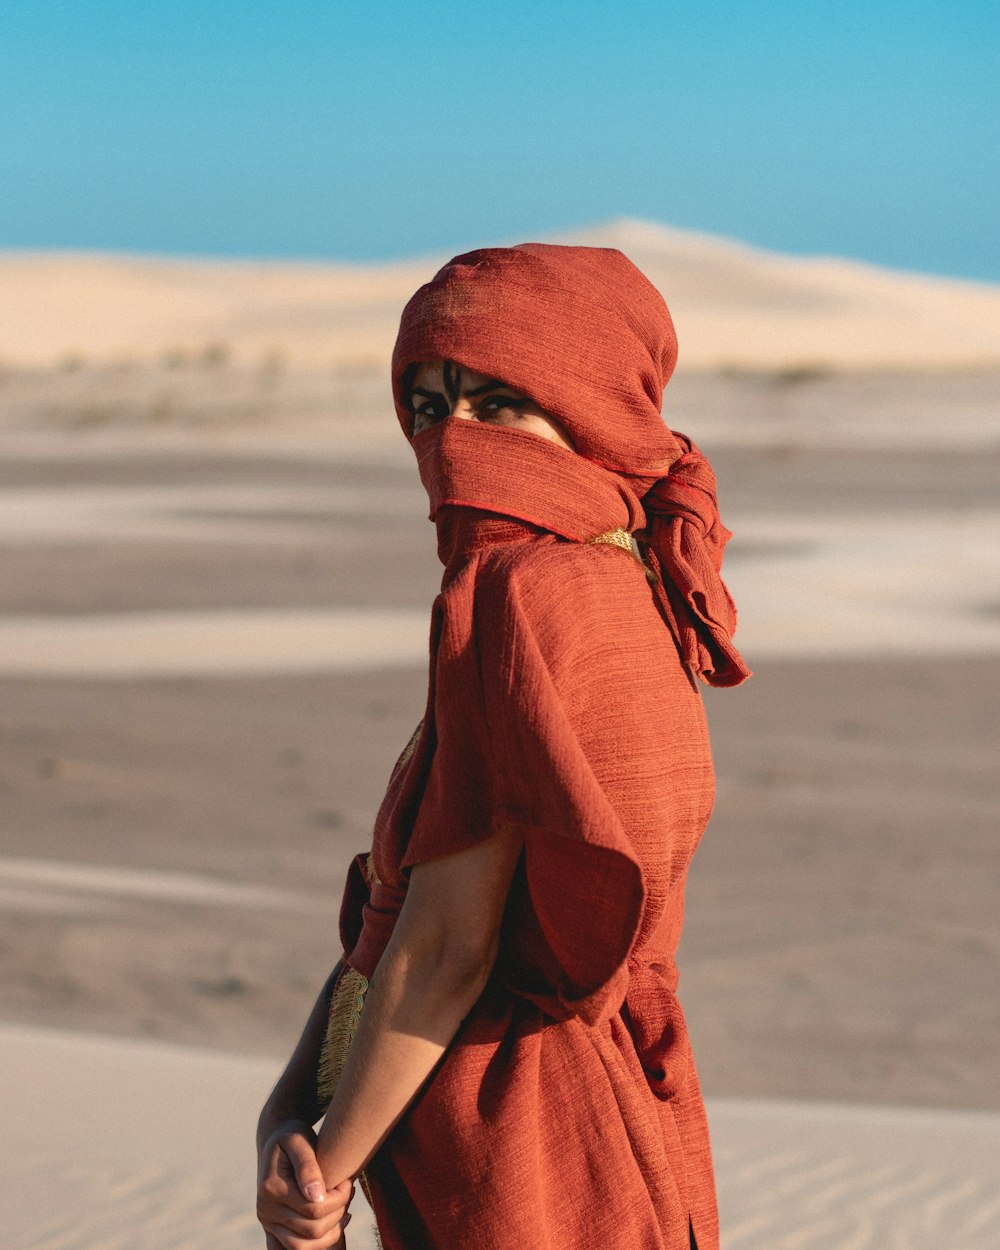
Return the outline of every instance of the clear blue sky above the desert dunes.
[[[1000,281],[999,11],[4,0],[0,248],[369,260],[626,215]]]

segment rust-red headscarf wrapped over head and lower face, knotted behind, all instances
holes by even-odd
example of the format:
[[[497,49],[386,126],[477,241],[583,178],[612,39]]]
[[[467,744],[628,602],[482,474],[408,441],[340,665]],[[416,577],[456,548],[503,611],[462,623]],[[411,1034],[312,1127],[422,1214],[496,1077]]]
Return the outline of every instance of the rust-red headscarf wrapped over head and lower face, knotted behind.
[[[575,541],[638,534],[688,666],[710,685],[749,676],[720,576],[731,538],[715,475],[660,415],[678,340],[662,296],[620,251],[522,244],[456,256],[402,312],[392,354],[396,412],[412,428],[406,370],[454,360],[530,395],[576,448],[470,421],[414,440],[431,516],[462,505]]]

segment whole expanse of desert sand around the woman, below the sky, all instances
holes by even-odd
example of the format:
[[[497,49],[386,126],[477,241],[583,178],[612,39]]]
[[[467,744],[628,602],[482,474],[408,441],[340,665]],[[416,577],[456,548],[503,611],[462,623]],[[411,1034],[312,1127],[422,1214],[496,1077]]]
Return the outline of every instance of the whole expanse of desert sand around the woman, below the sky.
[[[715,464],[756,674],[708,699],[719,799],[680,959],[725,1250],[988,1250],[1000,294],[636,224],[590,239],[690,292],[666,410]],[[422,710],[439,566],[359,308],[382,334],[432,264],[4,258],[0,281],[19,265],[35,294],[0,378],[8,1240],[262,1245],[256,1106]],[[784,354],[734,368],[740,326],[762,332],[769,300],[786,315],[792,288],[825,355],[781,330]],[[861,359],[845,326],[890,295]],[[976,332],[939,335],[918,370],[905,326],[945,299]],[[349,1241],[372,1244],[362,1214]]]

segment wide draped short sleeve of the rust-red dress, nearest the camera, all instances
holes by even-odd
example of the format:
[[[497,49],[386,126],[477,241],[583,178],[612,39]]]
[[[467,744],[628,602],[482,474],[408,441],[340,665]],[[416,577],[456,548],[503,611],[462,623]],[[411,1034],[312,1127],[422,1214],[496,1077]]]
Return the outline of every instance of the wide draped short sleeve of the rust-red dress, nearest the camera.
[[[539,960],[511,989],[556,1019],[592,1022],[625,998],[641,869],[572,729],[516,578],[481,579],[472,629],[465,640],[458,632],[441,621],[435,754],[405,866],[516,828]]]

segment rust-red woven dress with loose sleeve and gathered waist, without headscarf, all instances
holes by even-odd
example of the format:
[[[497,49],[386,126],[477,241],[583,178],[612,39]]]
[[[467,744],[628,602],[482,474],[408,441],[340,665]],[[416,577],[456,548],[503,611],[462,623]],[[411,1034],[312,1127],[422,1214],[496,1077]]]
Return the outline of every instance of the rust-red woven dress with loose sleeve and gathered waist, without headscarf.
[[[675,998],[712,804],[701,698],[642,566],[449,509],[428,715],[341,930],[370,978],[414,864],[524,834],[488,989],[368,1169],[386,1250],[716,1250]]]

